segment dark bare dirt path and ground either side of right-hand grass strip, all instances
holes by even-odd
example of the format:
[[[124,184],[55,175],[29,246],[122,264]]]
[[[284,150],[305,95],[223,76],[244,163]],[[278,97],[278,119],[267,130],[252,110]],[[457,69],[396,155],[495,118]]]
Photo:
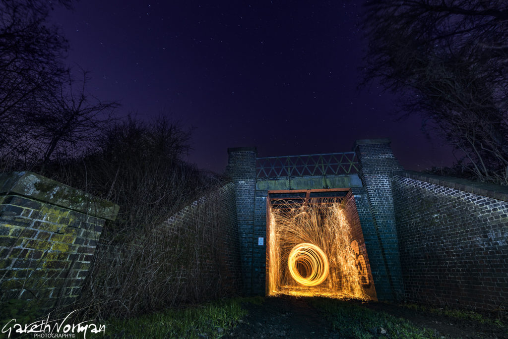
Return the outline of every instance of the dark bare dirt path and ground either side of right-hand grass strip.
[[[341,338],[333,332],[321,310],[309,304],[309,298],[267,297],[261,305],[246,303],[249,311],[239,326],[226,338]],[[506,331],[473,321],[412,311],[389,303],[350,301],[359,306],[405,318],[418,327],[432,330],[436,338],[506,338]],[[379,337],[386,337],[377,334]]]

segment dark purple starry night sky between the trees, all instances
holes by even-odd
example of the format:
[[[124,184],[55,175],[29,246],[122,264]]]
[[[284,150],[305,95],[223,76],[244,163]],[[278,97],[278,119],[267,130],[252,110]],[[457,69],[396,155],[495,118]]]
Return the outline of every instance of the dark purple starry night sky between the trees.
[[[392,140],[406,169],[450,165],[418,116],[394,121],[395,96],[358,90],[361,3],[83,0],[58,8],[68,62],[120,115],[161,113],[194,126],[188,161],[224,172],[227,148],[259,156],[351,151]]]

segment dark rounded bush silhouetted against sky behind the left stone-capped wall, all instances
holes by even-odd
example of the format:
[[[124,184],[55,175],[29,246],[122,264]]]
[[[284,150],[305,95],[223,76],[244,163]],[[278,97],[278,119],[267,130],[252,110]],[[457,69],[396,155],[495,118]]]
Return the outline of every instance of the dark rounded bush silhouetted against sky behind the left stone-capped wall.
[[[128,116],[108,123],[86,154],[51,168],[59,181],[116,202],[121,227],[133,229],[153,222],[148,210],[175,213],[209,186],[183,161],[190,133],[165,116],[148,122]]]

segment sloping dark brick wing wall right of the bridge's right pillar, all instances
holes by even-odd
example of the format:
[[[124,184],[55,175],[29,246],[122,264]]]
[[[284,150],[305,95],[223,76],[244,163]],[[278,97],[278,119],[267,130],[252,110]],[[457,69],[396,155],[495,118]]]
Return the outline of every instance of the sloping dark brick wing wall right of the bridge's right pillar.
[[[392,178],[407,300],[484,310],[505,308],[508,194],[479,186],[408,172]]]

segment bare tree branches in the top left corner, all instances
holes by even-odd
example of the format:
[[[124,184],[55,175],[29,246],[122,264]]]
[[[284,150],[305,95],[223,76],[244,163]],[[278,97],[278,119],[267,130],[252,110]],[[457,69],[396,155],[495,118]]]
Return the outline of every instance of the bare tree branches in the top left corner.
[[[70,1],[55,2],[69,6]],[[33,112],[67,72],[68,42],[48,22],[50,2],[0,2],[0,147],[22,133],[21,120]]]

